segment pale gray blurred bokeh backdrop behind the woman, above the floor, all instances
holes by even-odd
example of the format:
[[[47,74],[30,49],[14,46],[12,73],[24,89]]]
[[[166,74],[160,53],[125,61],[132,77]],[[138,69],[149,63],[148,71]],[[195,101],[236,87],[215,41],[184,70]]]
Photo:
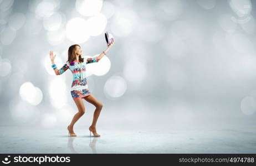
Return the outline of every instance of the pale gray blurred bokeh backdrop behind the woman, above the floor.
[[[98,128],[255,128],[255,1],[0,1],[1,126],[66,128],[78,111],[68,48],[83,56],[103,103]],[[75,127],[87,129],[94,106]],[[87,127],[88,126],[88,127]],[[256,129],[256,128],[255,128]],[[163,131],[164,132],[164,131]]]

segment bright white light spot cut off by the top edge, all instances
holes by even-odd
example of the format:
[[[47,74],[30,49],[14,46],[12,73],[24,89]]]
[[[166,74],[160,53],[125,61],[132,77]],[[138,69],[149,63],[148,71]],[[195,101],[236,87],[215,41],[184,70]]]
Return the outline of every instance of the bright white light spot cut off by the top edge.
[[[101,11],[103,1],[101,0],[76,0],[76,10],[84,16],[98,14]]]

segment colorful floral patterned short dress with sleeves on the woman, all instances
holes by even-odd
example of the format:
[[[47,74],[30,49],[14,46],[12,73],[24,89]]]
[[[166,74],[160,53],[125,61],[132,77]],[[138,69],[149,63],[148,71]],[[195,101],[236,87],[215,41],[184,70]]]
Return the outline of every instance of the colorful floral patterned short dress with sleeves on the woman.
[[[70,70],[73,74],[73,82],[71,84],[71,96],[73,100],[76,100],[80,97],[90,95],[90,91],[88,90],[88,82],[85,75],[85,66],[89,63],[98,62],[98,56],[93,58],[84,58],[84,62],[80,63],[79,61],[74,61],[74,64],[67,61],[66,64],[63,65],[62,68],[58,70],[58,75],[63,74],[66,70]]]

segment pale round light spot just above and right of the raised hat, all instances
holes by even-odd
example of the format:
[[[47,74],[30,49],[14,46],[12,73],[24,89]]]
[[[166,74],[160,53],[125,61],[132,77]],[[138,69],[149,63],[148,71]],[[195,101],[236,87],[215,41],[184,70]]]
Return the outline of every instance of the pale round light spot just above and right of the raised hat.
[[[136,27],[138,22],[137,15],[127,9],[119,9],[115,14],[113,23],[111,24],[111,32],[119,37],[126,37]]]

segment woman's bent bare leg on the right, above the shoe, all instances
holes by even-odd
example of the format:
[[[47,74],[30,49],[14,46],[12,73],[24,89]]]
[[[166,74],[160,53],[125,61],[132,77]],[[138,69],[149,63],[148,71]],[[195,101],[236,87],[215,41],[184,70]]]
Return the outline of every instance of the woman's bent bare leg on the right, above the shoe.
[[[89,103],[92,103],[96,107],[93,115],[93,123],[91,124],[91,127],[95,128],[97,120],[100,116],[100,111],[103,108],[103,104],[96,97],[94,97],[93,94],[85,96],[83,98],[84,100],[88,101]]]

